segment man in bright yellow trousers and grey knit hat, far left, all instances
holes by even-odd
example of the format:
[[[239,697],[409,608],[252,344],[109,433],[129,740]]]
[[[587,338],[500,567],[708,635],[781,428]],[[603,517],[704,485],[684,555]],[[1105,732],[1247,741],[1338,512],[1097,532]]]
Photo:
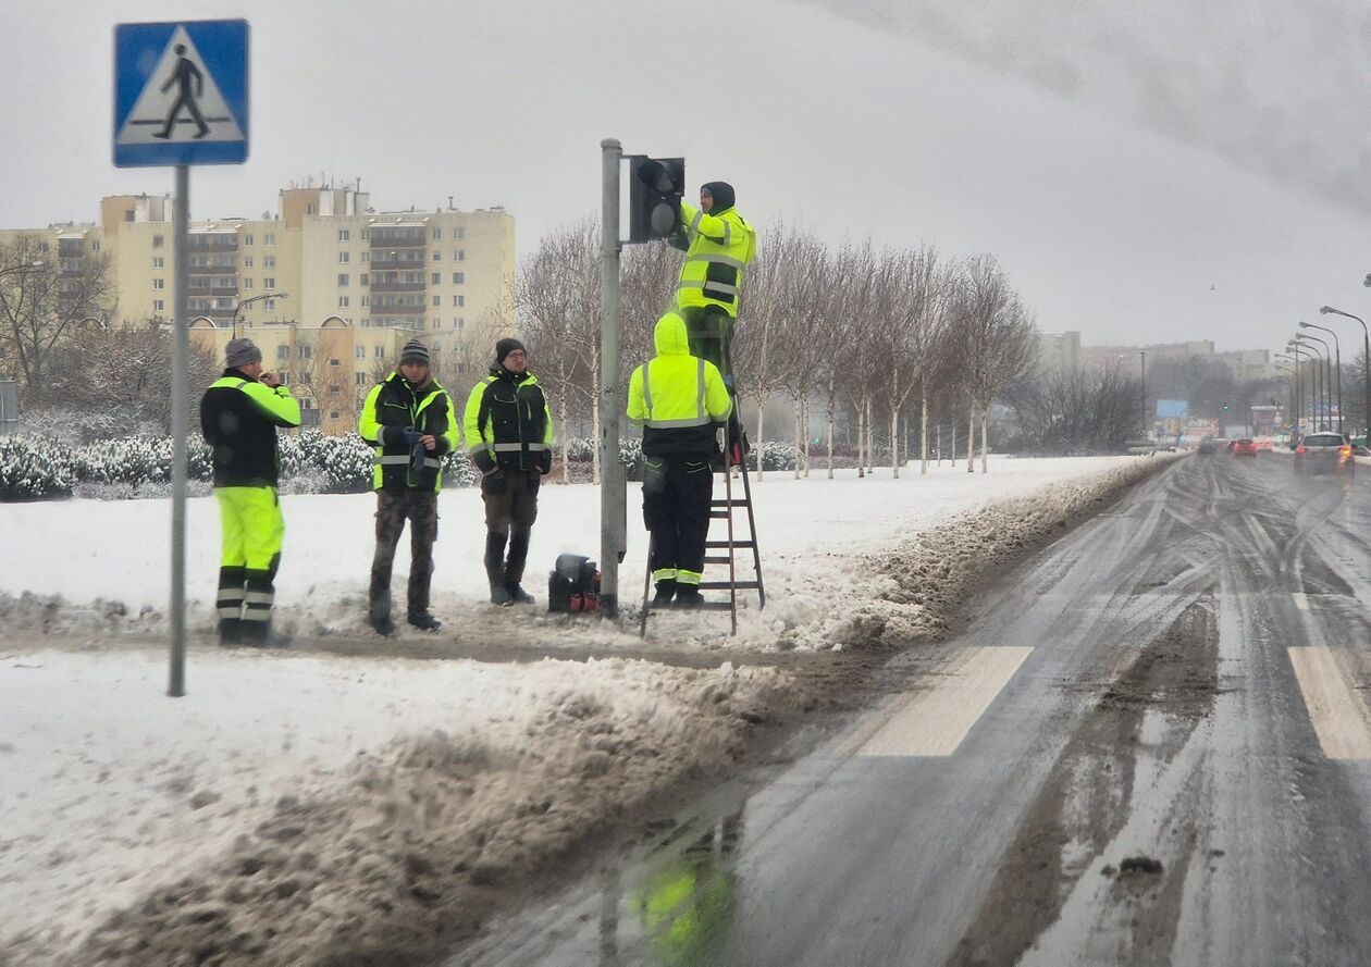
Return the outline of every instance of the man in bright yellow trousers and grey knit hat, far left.
[[[230,340],[223,375],[200,400],[219,504],[219,644],[265,645],[276,601],[285,522],[276,486],[276,430],[300,425],[300,404],[270,373],[252,340]]]

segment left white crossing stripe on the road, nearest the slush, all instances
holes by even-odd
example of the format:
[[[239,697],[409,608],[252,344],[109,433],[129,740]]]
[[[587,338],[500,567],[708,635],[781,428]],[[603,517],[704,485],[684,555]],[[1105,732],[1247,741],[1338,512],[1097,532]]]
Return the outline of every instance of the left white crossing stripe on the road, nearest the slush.
[[[950,657],[928,692],[909,696],[858,756],[950,756],[1032,648],[972,648]]]

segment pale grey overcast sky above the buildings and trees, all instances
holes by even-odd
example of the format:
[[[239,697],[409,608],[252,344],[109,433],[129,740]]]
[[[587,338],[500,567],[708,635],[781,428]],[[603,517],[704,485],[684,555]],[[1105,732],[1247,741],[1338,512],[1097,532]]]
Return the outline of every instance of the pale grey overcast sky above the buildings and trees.
[[[994,252],[1043,330],[1091,344],[1275,348],[1298,319],[1326,322],[1323,303],[1366,315],[1371,14],[1171,8],[11,3],[0,226],[170,190],[169,168],[110,160],[112,27],[247,16],[252,155],[193,173],[195,218],[259,216],[292,181],[361,177],[377,208],[503,204],[524,252],[598,211],[609,136],[684,155],[691,182],[731,181],[757,223]]]

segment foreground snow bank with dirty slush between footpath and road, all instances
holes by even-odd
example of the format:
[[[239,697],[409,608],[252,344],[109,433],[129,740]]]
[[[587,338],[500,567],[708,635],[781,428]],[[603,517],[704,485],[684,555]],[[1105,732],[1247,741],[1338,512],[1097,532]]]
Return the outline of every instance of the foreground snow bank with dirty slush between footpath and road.
[[[620,659],[193,668],[169,701],[160,653],[4,659],[0,962],[407,962],[495,881],[727,764],[787,688]]]

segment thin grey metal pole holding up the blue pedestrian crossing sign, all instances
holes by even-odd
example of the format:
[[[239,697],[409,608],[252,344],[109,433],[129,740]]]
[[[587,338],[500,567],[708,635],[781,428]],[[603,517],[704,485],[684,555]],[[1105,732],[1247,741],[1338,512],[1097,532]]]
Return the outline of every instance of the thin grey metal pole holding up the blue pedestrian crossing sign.
[[[189,356],[189,226],[191,166],[175,166],[175,212],[171,255],[175,262],[171,293],[171,681],[167,694],[185,694],[185,464],[186,359]]]

